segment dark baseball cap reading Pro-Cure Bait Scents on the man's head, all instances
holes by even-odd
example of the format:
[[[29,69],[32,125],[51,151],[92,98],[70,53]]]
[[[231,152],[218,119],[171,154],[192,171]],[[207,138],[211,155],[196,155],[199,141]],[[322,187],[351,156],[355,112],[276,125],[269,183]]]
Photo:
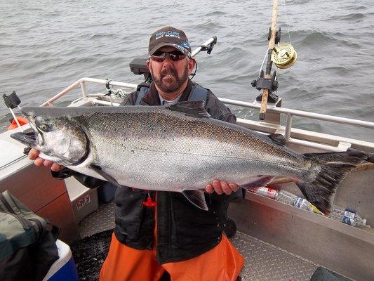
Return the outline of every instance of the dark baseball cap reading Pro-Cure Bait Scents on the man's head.
[[[185,32],[175,27],[163,27],[152,33],[149,38],[149,55],[153,55],[154,52],[163,46],[172,46],[183,54],[191,56],[191,46],[189,45]]]

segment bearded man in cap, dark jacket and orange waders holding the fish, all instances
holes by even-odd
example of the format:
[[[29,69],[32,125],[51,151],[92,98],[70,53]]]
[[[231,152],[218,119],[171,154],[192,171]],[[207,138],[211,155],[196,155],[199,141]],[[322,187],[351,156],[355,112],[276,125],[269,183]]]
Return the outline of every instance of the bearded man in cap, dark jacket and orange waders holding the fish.
[[[182,30],[163,27],[151,35],[147,66],[153,82],[149,88],[131,93],[125,105],[172,105],[202,97],[212,118],[236,121],[211,91],[189,79],[195,61]],[[50,166],[60,178],[74,174],[60,171],[61,166],[40,159],[38,153],[32,150],[29,154],[36,165]],[[100,183],[75,176],[88,187]],[[116,191],[116,227],[100,280],[151,281],[159,280],[165,272],[173,281],[236,280],[243,258],[222,230],[229,195],[238,185],[219,180],[206,185],[208,211],[195,207],[179,192],[134,188]]]

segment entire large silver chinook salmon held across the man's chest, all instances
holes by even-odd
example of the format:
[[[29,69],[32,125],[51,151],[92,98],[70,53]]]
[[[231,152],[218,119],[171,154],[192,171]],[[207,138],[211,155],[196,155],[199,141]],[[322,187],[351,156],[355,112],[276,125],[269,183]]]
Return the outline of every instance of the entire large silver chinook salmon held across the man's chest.
[[[275,135],[211,119],[202,101],[171,106],[24,107],[33,131],[15,140],[40,157],[116,185],[182,192],[208,209],[214,179],[249,189],[288,176],[323,213],[363,152],[299,154]]]

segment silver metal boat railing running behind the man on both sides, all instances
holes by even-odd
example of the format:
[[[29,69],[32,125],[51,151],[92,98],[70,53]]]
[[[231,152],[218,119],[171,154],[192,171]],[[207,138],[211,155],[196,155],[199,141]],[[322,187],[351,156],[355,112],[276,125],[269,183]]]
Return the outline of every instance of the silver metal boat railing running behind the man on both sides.
[[[60,91],[57,95],[53,96],[49,100],[46,100],[45,103],[43,103],[41,106],[51,106],[53,103],[61,98],[62,96],[65,96],[67,93],[71,92],[72,90],[80,87],[81,88],[81,94],[83,98],[88,98],[87,90],[86,90],[86,84],[87,83],[93,83],[93,84],[102,84],[105,86],[117,86],[121,87],[121,90],[123,91],[135,91],[137,88],[137,84],[129,84],[129,83],[123,83],[119,81],[111,81],[111,80],[105,80],[105,79],[95,79],[95,78],[89,78],[84,77],[79,79],[78,81],[75,81],[73,84],[68,86],[66,89]],[[241,100],[231,100],[228,98],[220,98],[220,100],[227,104],[227,105],[236,105],[239,107],[248,107],[255,110],[260,110],[260,104],[259,103],[248,103]],[[92,105],[119,105],[119,103],[115,103],[112,101],[102,100],[101,98],[92,98],[90,100]],[[337,117],[333,115],[323,115],[320,113],[314,113],[314,112],[306,112],[302,110],[293,110],[290,108],[285,107],[277,107],[268,105],[267,112],[275,114],[275,115],[286,115],[286,125],[281,126],[281,124],[276,122],[255,122],[247,119],[238,119],[238,123],[251,127],[255,127],[255,129],[259,129],[259,131],[262,131],[261,129],[264,129],[263,131],[267,133],[283,133],[283,135],[286,138],[286,141],[288,143],[293,143],[295,145],[303,145],[310,148],[315,148],[317,150],[326,150],[326,151],[345,151],[347,148],[354,146],[357,149],[363,149],[363,150],[370,150],[370,152],[374,152],[374,143],[369,143],[367,141],[359,141],[354,140],[351,138],[343,138],[339,136],[331,136],[326,133],[310,133],[309,131],[295,129],[292,127],[293,117],[305,117],[309,119],[315,119],[315,120],[321,120],[326,122],[332,122],[337,124],[349,124],[353,126],[359,126],[364,127],[367,129],[374,129],[374,122],[368,122],[358,119],[350,119],[345,117]],[[293,138],[291,136],[291,132],[293,135],[298,136],[299,139]],[[309,132],[309,133],[306,133]],[[303,141],[300,138],[305,138],[307,141]],[[312,142],[311,142],[312,141]]]

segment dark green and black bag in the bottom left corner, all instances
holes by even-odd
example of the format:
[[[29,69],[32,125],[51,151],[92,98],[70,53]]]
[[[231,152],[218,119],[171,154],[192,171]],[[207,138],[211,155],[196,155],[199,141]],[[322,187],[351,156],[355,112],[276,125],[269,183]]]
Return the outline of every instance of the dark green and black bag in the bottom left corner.
[[[0,280],[43,280],[58,259],[48,221],[8,190],[0,193]]]

